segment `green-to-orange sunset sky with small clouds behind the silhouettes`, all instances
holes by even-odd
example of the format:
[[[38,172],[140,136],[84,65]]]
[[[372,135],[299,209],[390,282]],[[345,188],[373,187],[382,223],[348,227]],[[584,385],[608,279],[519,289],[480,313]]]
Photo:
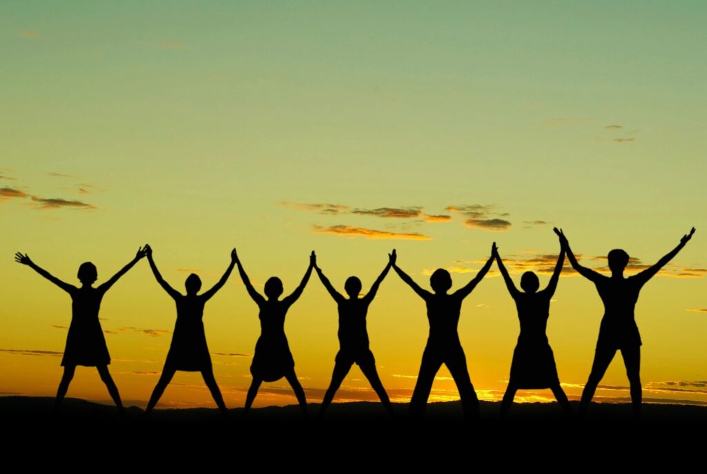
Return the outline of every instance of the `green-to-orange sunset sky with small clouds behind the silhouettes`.
[[[423,287],[465,284],[496,241],[515,281],[547,284],[562,227],[581,262],[627,274],[692,241],[636,306],[644,400],[707,405],[707,4],[674,2],[52,2],[0,6],[0,395],[53,396],[71,299],[13,261],[103,282],[144,243],[183,291],[211,287],[235,247],[257,289],[286,293],[315,250],[337,289],[364,292],[397,249]],[[567,270],[548,337],[571,399],[587,380],[602,303]],[[146,404],[175,306],[139,262],[103,299],[110,371]],[[243,406],[259,335],[238,274],[206,305],[229,407]],[[428,322],[394,272],[368,313],[390,398],[407,402]],[[496,266],[459,332],[482,400],[506,389],[518,318]],[[286,333],[308,400],[338,349],[337,307],[316,274]],[[110,397],[79,367],[69,397]],[[432,401],[456,400],[443,368]],[[597,401],[626,401],[620,354]],[[378,400],[354,366],[334,401]],[[519,391],[518,401],[554,400]],[[284,379],[255,406],[296,403]],[[158,407],[215,406],[178,372]]]

